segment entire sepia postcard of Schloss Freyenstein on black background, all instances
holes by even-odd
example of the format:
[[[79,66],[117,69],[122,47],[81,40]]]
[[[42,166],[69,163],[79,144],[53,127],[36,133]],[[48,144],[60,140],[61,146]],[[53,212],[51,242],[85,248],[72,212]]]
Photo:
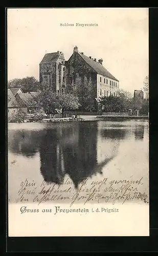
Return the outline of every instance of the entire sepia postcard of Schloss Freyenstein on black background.
[[[8,8],[8,235],[149,236],[148,8]]]

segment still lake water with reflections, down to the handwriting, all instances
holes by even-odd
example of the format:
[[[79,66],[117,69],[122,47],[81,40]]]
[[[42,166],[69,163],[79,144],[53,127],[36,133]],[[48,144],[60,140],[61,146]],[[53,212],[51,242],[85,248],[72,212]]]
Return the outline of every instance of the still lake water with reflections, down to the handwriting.
[[[75,190],[87,178],[143,178],[139,191],[148,195],[148,140],[147,120],[9,123],[9,201],[26,179]]]

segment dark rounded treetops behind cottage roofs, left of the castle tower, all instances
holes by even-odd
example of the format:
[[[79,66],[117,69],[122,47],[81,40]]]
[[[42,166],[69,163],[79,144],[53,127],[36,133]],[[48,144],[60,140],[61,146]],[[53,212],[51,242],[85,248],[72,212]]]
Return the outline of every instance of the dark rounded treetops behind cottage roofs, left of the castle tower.
[[[8,81],[8,88],[21,88],[24,92],[37,92],[39,91],[39,82],[33,76],[15,78]]]

